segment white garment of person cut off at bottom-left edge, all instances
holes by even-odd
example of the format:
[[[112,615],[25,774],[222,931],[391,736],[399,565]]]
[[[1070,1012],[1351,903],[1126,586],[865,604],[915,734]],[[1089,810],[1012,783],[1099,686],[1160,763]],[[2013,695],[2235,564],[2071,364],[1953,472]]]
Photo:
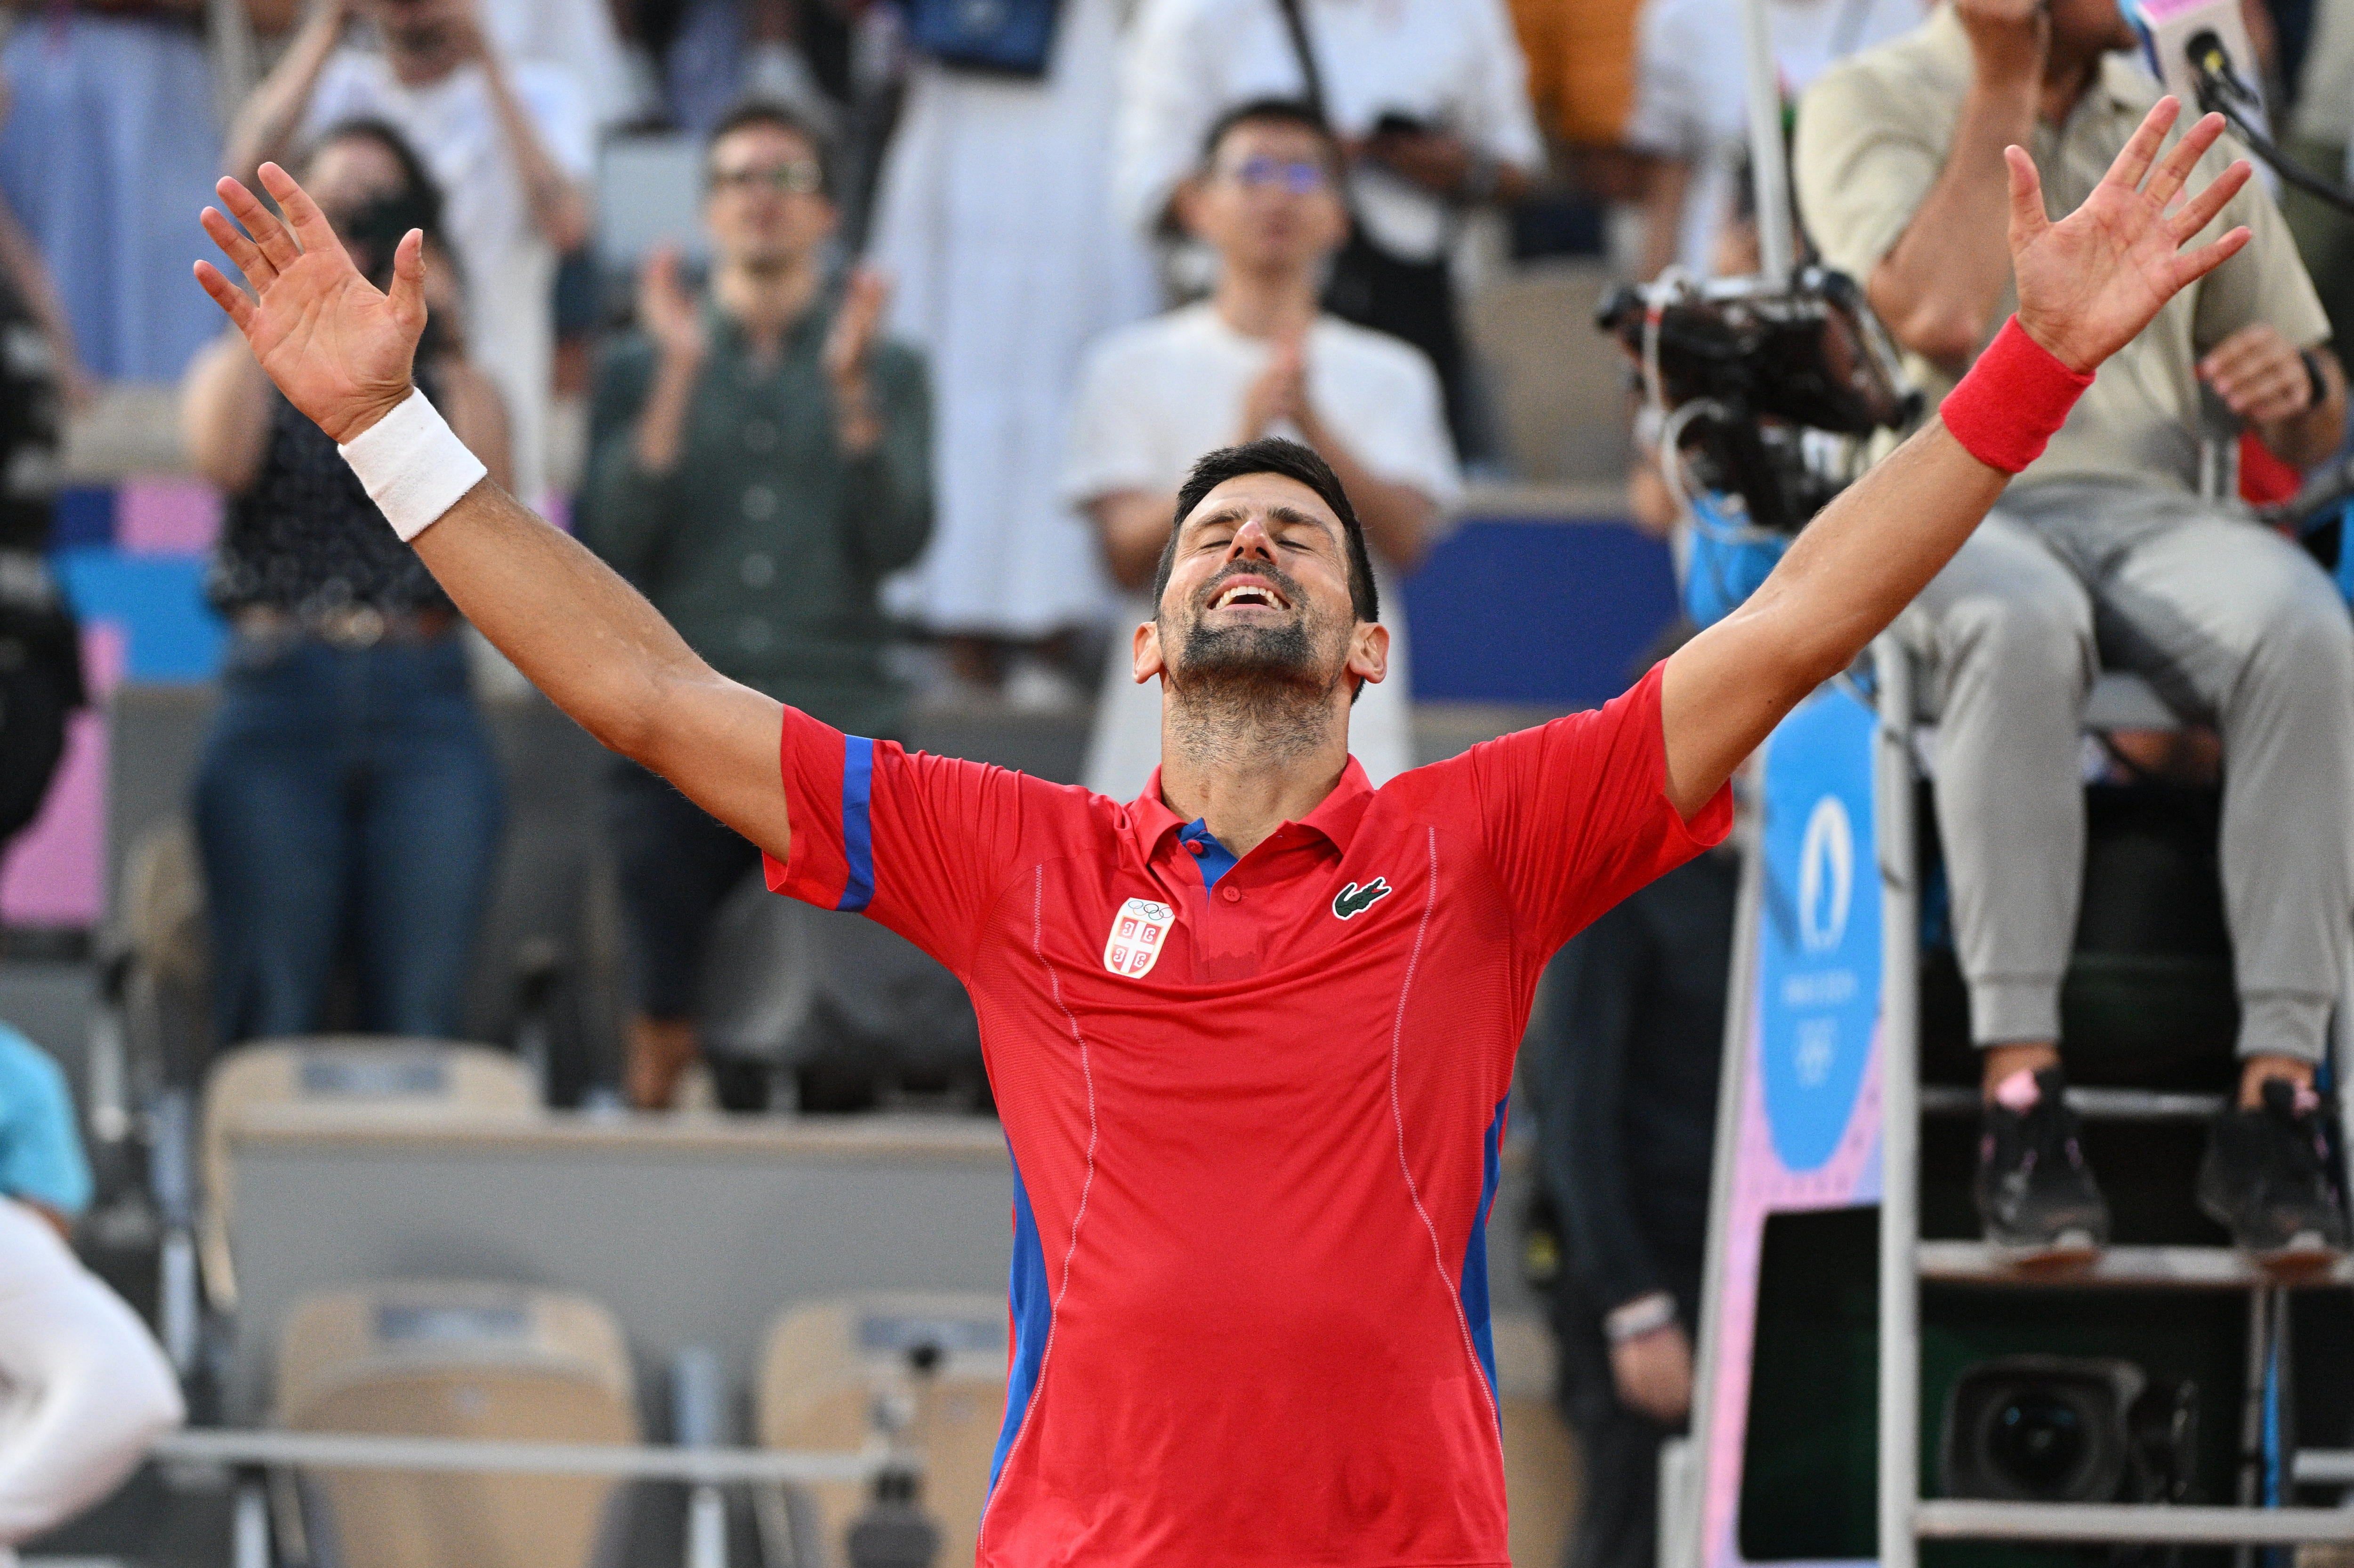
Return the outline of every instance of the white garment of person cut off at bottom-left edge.
[[[111,1493],[186,1410],[146,1326],[66,1244],[0,1201],[0,1547]]]

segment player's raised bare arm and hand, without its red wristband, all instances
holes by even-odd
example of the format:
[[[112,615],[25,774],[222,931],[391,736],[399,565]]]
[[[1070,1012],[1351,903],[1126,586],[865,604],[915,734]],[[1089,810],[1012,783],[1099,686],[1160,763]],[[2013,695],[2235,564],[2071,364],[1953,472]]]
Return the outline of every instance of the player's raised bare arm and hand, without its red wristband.
[[[2234,162],[2177,207],[2192,167],[2222,134],[2222,115],[2194,125],[2159,160],[2175,113],[2177,103],[2161,99],[2086,205],[2060,223],[2043,216],[2034,162],[2006,148],[2020,327],[2076,374],[2097,369],[2168,299],[2248,242],[2248,230],[2234,228],[2182,249],[2248,183],[2248,165]],[[1782,715],[1846,670],[1961,550],[2008,480],[1942,418],[1930,421],[1827,505],[1742,609],[1678,649],[1660,693],[1676,809],[1700,811]]]

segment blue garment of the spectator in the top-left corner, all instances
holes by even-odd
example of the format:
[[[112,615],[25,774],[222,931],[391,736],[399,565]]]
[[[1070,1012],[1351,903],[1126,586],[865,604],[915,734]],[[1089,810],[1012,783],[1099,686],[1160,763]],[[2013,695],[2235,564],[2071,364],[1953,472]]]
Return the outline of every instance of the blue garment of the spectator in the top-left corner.
[[[24,24],[0,49],[9,94],[0,197],[59,282],[80,364],[108,381],[174,381],[217,331],[202,292],[188,287],[181,221],[212,200],[219,174],[205,5],[14,9]],[[252,0],[247,14],[280,31],[294,7]],[[21,287],[21,268],[9,270]]]

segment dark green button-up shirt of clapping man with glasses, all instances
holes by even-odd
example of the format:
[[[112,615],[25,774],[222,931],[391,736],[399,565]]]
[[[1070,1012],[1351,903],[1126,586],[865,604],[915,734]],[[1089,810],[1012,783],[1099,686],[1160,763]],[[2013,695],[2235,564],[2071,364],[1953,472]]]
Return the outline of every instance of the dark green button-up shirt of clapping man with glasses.
[[[932,397],[911,348],[876,346],[883,440],[845,458],[819,364],[831,322],[833,299],[812,306],[763,369],[706,301],[685,447],[659,475],[636,454],[657,350],[617,339],[596,376],[579,531],[720,675],[850,733],[897,736],[906,691],[883,668],[876,585],[932,536]]]

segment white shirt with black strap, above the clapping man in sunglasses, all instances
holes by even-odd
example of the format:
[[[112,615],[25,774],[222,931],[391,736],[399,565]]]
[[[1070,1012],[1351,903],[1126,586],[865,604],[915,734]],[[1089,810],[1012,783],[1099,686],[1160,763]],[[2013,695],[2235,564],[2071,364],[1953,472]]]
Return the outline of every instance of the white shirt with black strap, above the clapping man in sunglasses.
[[[1365,136],[1396,113],[1516,169],[1544,167],[1528,63],[1502,0],[1302,0],[1302,16],[1342,136]],[[1111,181],[1121,216],[1151,230],[1224,110],[1299,96],[1306,85],[1278,0],[1144,0],[1121,61]],[[1450,212],[1417,186],[1358,169],[1349,195],[1394,254],[1445,249]]]

